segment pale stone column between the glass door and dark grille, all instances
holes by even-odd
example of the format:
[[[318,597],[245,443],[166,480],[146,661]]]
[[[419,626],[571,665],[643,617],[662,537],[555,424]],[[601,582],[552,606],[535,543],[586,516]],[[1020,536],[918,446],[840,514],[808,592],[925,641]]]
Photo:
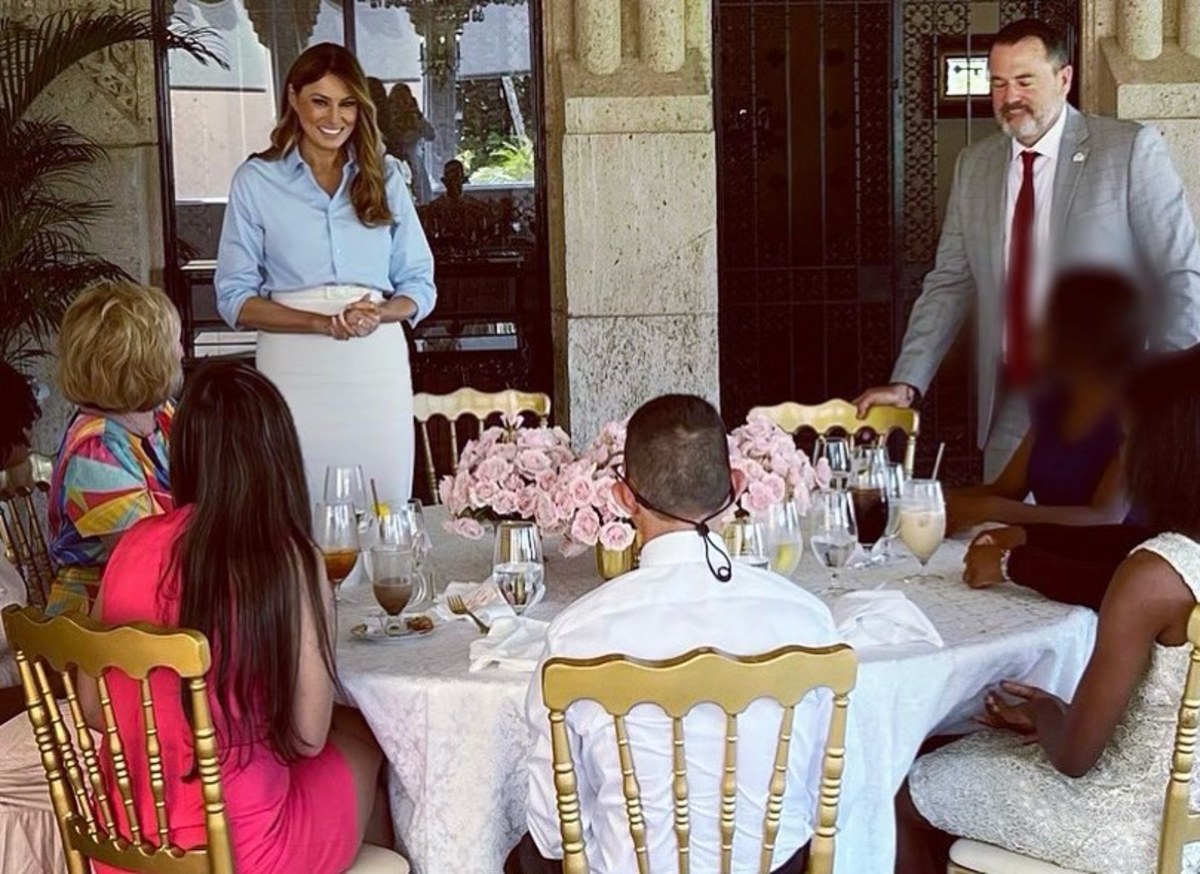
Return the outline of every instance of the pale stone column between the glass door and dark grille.
[[[629,2],[605,74],[588,2],[545,7],[556,418],[577,444],[660,394],[718,401],[712,36],[692,4]]]

